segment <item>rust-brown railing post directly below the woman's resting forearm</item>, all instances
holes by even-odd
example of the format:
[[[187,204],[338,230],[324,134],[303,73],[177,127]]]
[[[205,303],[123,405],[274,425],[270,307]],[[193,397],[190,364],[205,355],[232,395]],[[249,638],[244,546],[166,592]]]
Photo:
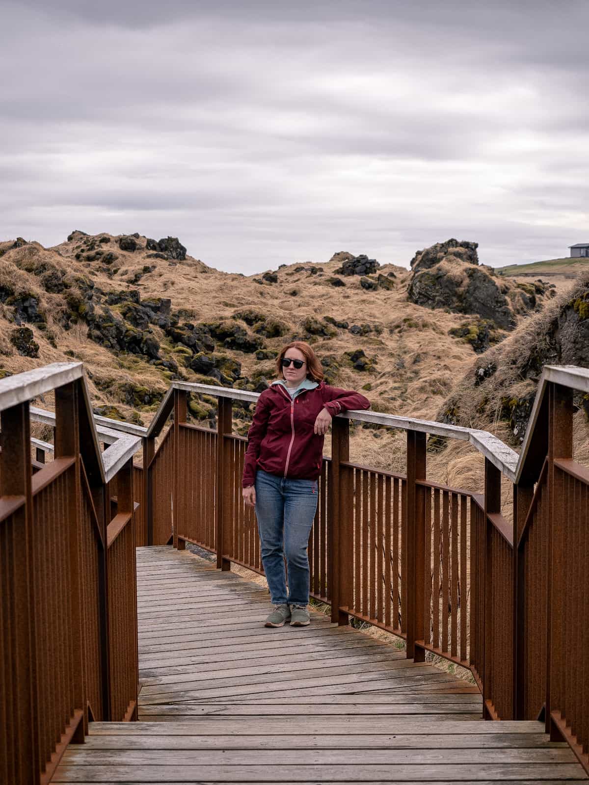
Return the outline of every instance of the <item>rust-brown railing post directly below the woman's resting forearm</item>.
[[[344,484],[345,470],[341,462],[349,461],[349,420],[335,417],[331,421],[331,488],[329,489],[329,531],[327,537],[327,559],[331,560],[331,622],[338,625],[348,623],[348,614],[340,606],[349,606],[349,590],[352,585],[353,548],[346,542],[346,521],[350,509],[346,508],[349,494]],[[344,602],[345,601],[345,602]]]

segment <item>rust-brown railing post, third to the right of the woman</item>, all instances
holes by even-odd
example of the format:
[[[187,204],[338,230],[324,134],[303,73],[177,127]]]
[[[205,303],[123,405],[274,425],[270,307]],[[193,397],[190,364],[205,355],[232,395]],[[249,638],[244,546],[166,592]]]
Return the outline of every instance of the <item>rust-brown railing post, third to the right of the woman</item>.
[[[481,681],[483,685],[483,718],[485,720],[492,719],[492,714],[488,710],[487,701],[492,699],[489,696],[489,678],[492,668],[491,657],[491,644],[492,644],[492,602],[493,602],[493,586],[489,585],[491,576],[491,565],[489,558],[491,554],[491,527],[488,524],[489,513],[499,513],[501,511],[501,472],[496,466],[485,457],[485,537],[484,537],[484,557],[483,557],[483,579],[481,586],[485,590],[485,627],[484,627],[484,640],[485,646],[483,648],[483,669]]]

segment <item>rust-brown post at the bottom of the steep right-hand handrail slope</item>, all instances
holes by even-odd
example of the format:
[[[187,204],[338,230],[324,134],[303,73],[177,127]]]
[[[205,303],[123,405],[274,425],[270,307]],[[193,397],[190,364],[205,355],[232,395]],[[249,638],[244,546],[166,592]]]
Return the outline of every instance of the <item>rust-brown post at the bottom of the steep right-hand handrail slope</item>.
[[[524,685],[525,685],[525,561],[522,558],[518,542],[524,530],[525,519],[534,498],[533,485],[514,485],[514,720],[525,719]]]

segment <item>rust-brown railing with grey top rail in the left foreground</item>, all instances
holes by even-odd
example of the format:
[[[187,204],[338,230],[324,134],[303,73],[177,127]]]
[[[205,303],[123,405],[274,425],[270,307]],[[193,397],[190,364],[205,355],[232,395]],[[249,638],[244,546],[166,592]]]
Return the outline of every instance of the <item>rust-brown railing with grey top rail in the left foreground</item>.
[[[53,389],[54,459],[31,466],[29,400]],[[48,783],[90,719],[136,716],[141,443],[101,456],[80,363],[2,380],[0,425],[0,782]]]

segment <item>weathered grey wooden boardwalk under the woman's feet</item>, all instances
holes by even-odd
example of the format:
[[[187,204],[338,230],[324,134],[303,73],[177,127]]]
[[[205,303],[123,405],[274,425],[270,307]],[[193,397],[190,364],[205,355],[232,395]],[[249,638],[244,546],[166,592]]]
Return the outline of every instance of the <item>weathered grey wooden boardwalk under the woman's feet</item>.
[[[269,595],[187,551],[137,550],[137,723],[93,723],[54,783],[584,780],[536,722],[485,722],[466,681]]]

